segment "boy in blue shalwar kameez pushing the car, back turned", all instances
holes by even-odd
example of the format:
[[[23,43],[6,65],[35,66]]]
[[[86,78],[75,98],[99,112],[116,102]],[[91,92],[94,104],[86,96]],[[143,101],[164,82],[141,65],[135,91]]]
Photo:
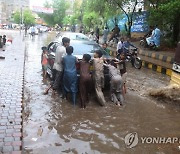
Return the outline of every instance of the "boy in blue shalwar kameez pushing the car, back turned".
[[[67,93],[72,94],[72,102],[76,104],[76,94],[77,94],[77,71],[76,63],[78,62],[77,58],[72,55],[73,47],[66,47],[67,55],[63,57],[63,86],[64,86],[64,95],[67,96]]]

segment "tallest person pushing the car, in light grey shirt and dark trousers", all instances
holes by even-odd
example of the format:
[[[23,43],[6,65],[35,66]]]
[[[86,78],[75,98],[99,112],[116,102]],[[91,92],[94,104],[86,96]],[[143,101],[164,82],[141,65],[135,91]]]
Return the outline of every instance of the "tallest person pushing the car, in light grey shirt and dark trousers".
[[[54,92],[57,90],[62,91],[62,76],[63,76],[63,64],[62,59],[66,55],[66,47],[69,46],[70,39],[67,37],[63,37],[62,46],[58,46],[56,49],[55,61],[53,69],[56,70],[55,81],[53,84]]]

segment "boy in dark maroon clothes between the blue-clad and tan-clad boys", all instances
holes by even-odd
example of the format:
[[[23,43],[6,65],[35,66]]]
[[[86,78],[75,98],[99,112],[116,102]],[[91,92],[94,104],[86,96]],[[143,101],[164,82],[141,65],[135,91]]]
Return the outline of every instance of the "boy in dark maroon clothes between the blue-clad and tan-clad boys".
[[[89,100],[88,94],[91,87],[91,74],[90,74],[90,61],[91,56],[89,54],[84,54],[82,61],[80,61],[80,98],[81,98],[81,108],[86,108],[86,104]]]

